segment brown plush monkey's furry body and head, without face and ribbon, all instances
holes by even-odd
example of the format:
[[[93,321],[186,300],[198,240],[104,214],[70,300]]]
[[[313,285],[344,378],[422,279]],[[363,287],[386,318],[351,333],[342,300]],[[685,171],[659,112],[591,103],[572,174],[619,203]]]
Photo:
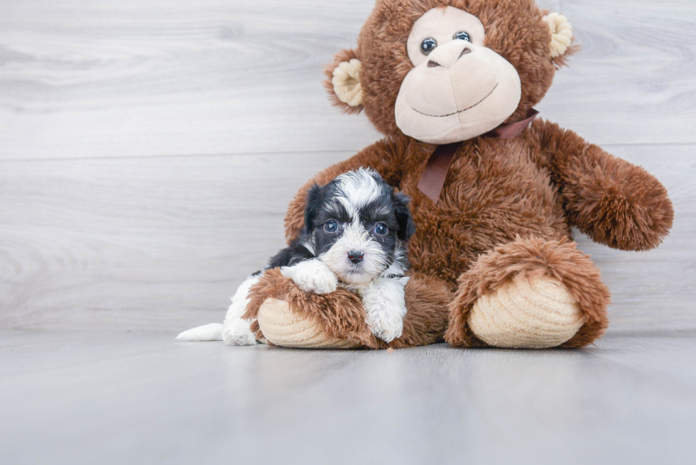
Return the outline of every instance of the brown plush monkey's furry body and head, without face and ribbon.
[[[394,111],[413,69],[404,45],[413,24],[442,6],[477,16],[486,48],[517,70],[521,99],[506,122],[526,117],[575,51],[553,42],[558,31],[550,30],[554,23],[544,20],[546,12],[532,0],[378,0],[357,49],[339,53],[328,67],[327,88],[335,104],[348,112],[364,109],[386,137],[309,180],[290,203],[286,235],[295,238],[303,226],[308,188],[348,170],[374,168],[409,195],[416,233],[408,244],[412,278],[403,336],[390,344],[376,339],[359,298],[346,290],[310,295],[273,272],[252,288],[246,316],[256,317],[267,303],[286,302],[297,321],[323,334],[323,346],[339,340],[379,349],[443,338],[460,347],[590,344],[607,328],[609,290],[597,267],[575,247],[570,227],[612,248],[648,250],[660,244],[673,221],[667,191],[643,168],[537,120],[512,140],[463,141],[439,201],[426,197],[418,182],[437,146],[406,136]],[[558,16],[554,19],[558,24]],[[353,96],[348,100],[333,94],[332,78],[333,70],[350,60],[359,60],[359,67],[344,74],[359,72],[359,82],[347,83]],[[275,335],[274,328],[259,324],[258,339]],[[283,345],[282,334],[267,339]]]

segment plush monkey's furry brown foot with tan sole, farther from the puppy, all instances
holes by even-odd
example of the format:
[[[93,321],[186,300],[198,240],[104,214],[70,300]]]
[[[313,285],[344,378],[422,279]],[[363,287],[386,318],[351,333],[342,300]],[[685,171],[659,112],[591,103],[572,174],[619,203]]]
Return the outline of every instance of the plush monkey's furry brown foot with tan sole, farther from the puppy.
[[[445,340],[455,347],[582,347],[607,328],[609,290],[568,239],[517,239],[459,278]]]

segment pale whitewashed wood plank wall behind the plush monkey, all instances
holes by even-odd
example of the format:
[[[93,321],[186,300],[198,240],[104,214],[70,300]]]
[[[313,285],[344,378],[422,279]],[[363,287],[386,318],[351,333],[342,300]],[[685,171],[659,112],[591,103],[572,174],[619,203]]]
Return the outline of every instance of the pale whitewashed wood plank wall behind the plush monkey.
[[[540,110],[656,174],[657,251],[592,244],[611,331],[695,328],[696,4],[543,1],[584,50]],[[320,67],[371,0],[0,0],[0,327],[217,321],[313,173],[379,135]]]

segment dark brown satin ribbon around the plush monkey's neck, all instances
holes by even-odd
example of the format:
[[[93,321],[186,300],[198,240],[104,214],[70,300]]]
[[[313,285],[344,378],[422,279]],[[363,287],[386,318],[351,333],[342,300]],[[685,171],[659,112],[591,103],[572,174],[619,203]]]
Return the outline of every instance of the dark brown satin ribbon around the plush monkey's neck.
[[[499,137],[506,140],[516,138],[528,128],[538,114],[538,111],[531,109],[527,112],[526,119],[515,123],[501,124],[493,131],[485,133],[483,137]],[[447,172],[450,170],[450,163],[452,163],[452,158],[455,157],[455,153],[461,145],[461,142],[455,142],[438,146],[433,155],[430,155],[428,164],[425,165],[425,171],[418,182],[418,189],[435,203],[437,203],[437,199],[440,199]]]

